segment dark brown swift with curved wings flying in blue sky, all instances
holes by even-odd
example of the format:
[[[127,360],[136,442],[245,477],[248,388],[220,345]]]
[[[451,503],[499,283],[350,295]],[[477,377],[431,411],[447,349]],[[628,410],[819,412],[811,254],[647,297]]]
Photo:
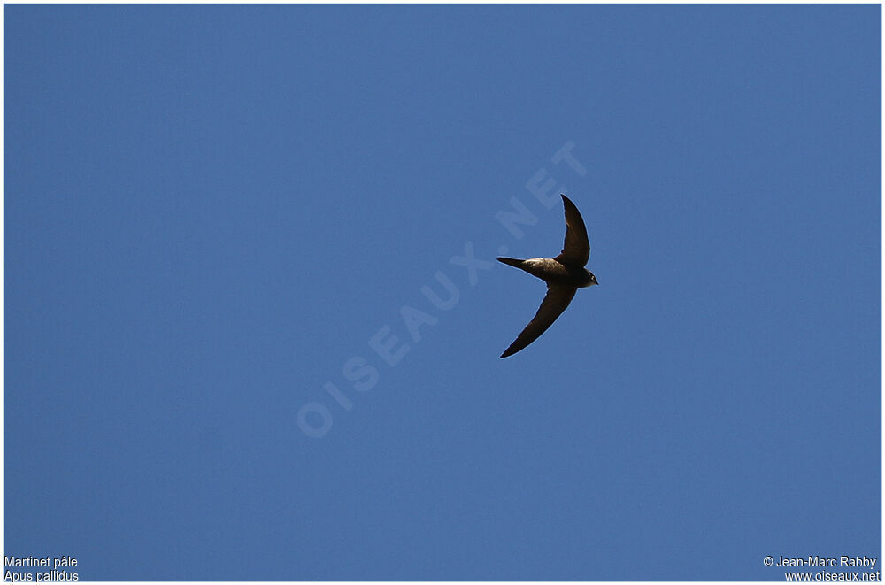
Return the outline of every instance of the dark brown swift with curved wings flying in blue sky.
[[[527,260],[498,258],[504,264],[516,266],[547,283],[547,296],[544,296],[541,308],[516,341],[504,350],[502,358],[525,349],[529,343],[547,331],[548,327],[553,325],[553,321],[572,302],[574,293],[578,289],[599,284],[596,282],[596,276],[584,268],[590,258],[590,242],[587,239],[587,227],[584,227],[581,213],[565,195],[562,195],[562,204],[566,208],[566,243],[563,244],[559,256]]]

